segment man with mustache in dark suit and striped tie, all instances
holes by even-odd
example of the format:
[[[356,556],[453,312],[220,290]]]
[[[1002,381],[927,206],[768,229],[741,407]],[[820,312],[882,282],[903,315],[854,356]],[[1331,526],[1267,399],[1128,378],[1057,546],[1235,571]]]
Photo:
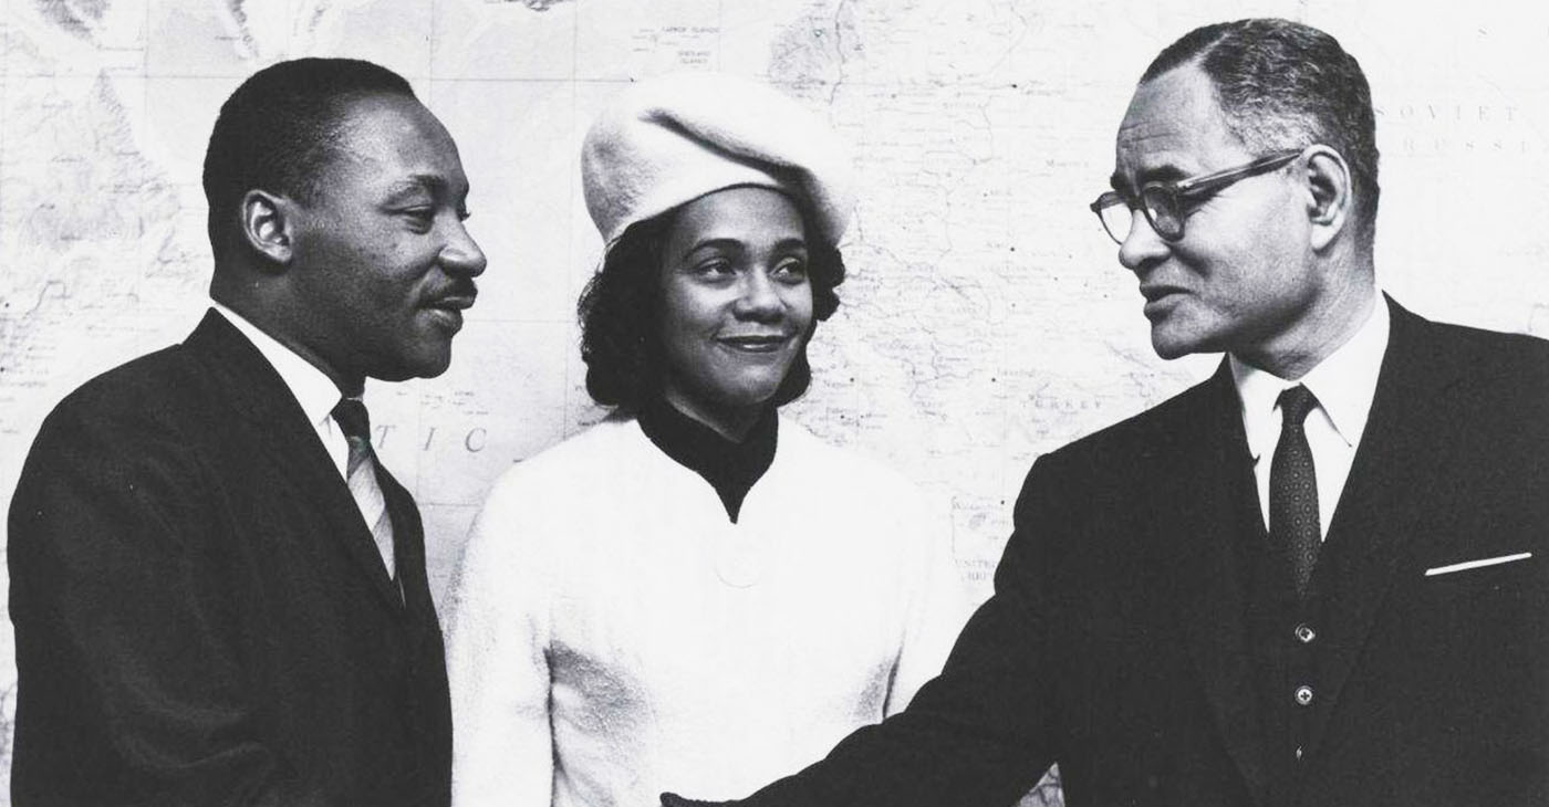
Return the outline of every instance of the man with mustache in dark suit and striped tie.
[[[381,67],[282,62],[204,160],[212,310],[46,418],[11,507],[12,799],[435,805],[441,634],[367,376],[435,376],[485,257]]]

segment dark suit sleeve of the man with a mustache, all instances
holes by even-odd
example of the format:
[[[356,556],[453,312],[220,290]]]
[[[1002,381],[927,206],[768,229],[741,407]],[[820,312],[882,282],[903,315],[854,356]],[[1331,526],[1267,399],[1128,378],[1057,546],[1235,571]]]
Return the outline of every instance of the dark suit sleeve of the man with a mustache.
[[[155,414],[45,423],[9,516],[17,807],[325,804],[259,740],[212,485]]]

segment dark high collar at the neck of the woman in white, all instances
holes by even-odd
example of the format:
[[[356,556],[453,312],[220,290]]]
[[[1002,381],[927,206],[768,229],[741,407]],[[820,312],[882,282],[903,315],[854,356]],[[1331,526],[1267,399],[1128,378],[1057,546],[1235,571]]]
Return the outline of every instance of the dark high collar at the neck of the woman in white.
[[[779,418],[774,407],[759,415],[740,443],[726,440],[709,426],[678,412],[665,400],[646,404],[638,415],[640,431],[646,432],[672,462],[705,477],[716,488],[716,496],[726,508],[726,517],[737,524],[742,500],[753,483],[774,462],[774,443]]]

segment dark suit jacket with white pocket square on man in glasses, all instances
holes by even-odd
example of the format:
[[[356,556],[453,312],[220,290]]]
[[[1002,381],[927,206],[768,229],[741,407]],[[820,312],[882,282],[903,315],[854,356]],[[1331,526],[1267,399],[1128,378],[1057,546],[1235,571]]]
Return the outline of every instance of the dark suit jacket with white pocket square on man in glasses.
[[[1041,457],[942,675],[747,804],[1005,807],[1050,762],[1072,807],[1549,804],[1549,344],[1393,305],[1314,576],[1293,787],[1267,764],[1235,559],[1252,485],[1225,367]]]

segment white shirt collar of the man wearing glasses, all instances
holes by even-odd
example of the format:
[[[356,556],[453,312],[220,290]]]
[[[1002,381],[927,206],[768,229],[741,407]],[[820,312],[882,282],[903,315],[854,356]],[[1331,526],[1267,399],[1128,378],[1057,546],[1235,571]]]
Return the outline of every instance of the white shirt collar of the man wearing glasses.
[[[1383,302],[1383,294],[1377,293],[1374,297],[1372,311],[1360,330],[1297,381],[1318,398],[1318,409],[1329,418],[1340,440],[1351,448],[1360,445],[1362,432],[1366,431],[1371,401],[1377,393],[1377,375],[1382,372],[1382,356],[1388,350],[1388,305]],[[1295,384],[1244,364],[1236,356],[1227,361],[1231,366],[1238,398],[1242,401],[1242,428],[1247,432],[1248,452],[1258,460],[1266,452],[1275,451],[1279,434],[1275,428],[1279,420],[1276,400],[1281,390]]]

